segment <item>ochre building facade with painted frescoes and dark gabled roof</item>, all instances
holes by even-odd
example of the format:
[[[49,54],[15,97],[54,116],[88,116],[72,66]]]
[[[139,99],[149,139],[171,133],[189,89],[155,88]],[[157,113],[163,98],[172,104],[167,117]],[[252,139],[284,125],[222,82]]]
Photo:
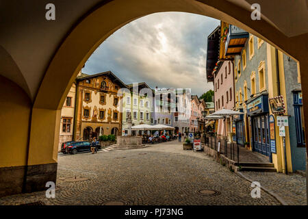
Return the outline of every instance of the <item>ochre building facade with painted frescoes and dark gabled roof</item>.
[[[96,75],[79,75],[75,112],[74,140],[90,140],[94,136],[119,135],[122,110],[118,90],[127,88],[108,71]]]

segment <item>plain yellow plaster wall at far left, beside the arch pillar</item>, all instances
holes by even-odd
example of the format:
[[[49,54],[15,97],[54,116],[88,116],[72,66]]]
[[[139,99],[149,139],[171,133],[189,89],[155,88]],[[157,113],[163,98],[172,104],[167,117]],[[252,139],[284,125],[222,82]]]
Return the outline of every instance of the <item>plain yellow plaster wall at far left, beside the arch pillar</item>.
[[[0,168],[25,166],[31,100],[23,89],[0,75]]]

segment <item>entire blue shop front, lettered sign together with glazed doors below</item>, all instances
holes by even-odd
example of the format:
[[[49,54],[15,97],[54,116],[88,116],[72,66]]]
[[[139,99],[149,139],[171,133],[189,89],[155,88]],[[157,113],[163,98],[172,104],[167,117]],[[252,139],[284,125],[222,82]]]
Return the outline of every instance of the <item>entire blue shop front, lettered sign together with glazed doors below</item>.
[[[253,151],[271,159],[268,94],[261,94],[247,101],[247,116],[251,124]]]

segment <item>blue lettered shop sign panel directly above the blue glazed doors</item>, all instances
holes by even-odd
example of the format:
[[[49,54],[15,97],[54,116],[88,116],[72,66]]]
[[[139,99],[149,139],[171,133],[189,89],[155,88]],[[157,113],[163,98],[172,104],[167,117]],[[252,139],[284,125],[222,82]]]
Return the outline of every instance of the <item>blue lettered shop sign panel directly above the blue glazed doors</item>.
[[[268,112],[268,94],[262,94],[253,101],[247,103],[247,114],[253,116]]]

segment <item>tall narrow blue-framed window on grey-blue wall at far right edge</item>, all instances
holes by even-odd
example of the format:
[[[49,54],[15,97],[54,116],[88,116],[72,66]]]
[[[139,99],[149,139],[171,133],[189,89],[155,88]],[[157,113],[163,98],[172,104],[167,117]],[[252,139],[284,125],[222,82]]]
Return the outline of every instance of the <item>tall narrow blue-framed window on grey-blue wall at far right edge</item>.
[[[302,92],[295,92],[293,94],[293,98],[297,146],[305,146],[305,121],[303,112]]]

